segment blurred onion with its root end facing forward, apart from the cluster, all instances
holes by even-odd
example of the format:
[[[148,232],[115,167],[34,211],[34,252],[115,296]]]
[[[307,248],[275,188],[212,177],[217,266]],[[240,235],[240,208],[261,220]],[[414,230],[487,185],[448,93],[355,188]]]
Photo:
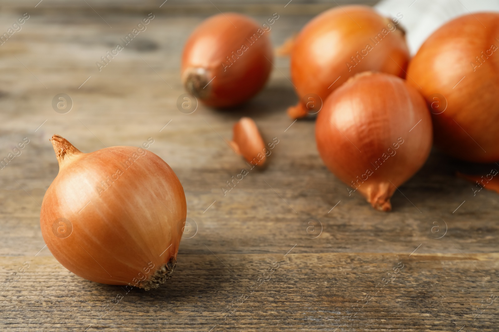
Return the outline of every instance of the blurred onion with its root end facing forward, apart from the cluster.
[[[269,31],[246,15],[221,13],[202,22],[187,40],[182,83],[208,106],[236,106],[261,90],[272,58]]]

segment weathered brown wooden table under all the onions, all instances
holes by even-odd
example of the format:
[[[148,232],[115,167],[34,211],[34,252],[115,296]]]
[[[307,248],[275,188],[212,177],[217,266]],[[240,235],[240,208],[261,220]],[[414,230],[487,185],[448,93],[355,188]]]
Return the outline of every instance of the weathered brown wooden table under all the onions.
[[[499,295],[499,197],[474,196],[453,160],[432,152],[390,213],[349,196],[318,156],[314,121],[285,114],[296,102],[286,58],[242,107],[177,109],[182,46],[207,15],[238,10],[264,21],[278,12],[271,38],[279,45],[329,4],[35,2],[9,0],[0,13],[3,30],[30,15],[0,46],[1,157],[30,140],[0,172],[2,331],[498,331],[499,301],[486,303]],[[99,72],[95,62],[150,12],[147,30]],[[68,113],[52,109],[59,93],[73,101]],[[279,143],[265,170],[224,196],[247,166],[221,136],[230,139],[243,115]],[[75,276],[44,247],[39,204],[58,172],[54,133],[84,152],[154,138],[150,150],[180,178],[197,225],[181,242],[173,279],[125,294]],[[475,317],[477,306],[488,307]]]

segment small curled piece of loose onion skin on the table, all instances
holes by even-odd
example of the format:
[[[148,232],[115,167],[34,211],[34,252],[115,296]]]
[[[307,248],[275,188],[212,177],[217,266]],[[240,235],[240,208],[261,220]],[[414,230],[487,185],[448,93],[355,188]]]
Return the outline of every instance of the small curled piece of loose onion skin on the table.
[[[233,139],[230,142],[236,153],[256,166],[263,166],[266,161],[265,143],[261,138],[256,123],[250,117],[242,117],[233,127]]]

